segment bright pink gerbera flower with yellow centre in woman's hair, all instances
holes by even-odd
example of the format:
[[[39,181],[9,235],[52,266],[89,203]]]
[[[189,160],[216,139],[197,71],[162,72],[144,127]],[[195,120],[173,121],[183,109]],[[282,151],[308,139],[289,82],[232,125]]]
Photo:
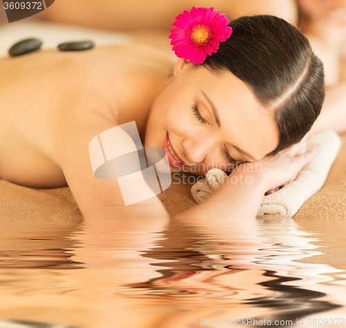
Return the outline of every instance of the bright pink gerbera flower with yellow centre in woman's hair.
[[[184,10],[176,16],[172,24],[176,26],[170,31],[174,53],[195,64],[201,64],[207,55],[216,53],[220,42],[224,42],[232,34],[228,26],[230,21],[226,15],[214,8],[195,8],[191,12]]]

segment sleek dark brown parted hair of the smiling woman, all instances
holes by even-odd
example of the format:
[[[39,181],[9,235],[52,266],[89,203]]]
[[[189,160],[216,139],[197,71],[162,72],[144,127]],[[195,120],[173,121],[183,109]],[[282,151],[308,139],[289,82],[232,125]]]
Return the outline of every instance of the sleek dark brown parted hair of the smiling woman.
[[[202,66],[228,69],[273,113],[279,144],[269,155],[298,143],[316,121],[325,98],[323,64],[297,28],[260,15],[231,21],[233,33]]]

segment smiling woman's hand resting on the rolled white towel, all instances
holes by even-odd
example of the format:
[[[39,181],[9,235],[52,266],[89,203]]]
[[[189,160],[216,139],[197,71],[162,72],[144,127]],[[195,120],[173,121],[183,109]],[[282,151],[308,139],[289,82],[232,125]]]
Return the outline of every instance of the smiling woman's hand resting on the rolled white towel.
[[[306,149],[307,136],[298,144],[280,151],[277,155],[266,155],[255,162],[255,166],[260,164],[260,174],[265,175],[266,194],[281,189],[297,178],[302,168],[316,155],[314,150],[307,152]]]

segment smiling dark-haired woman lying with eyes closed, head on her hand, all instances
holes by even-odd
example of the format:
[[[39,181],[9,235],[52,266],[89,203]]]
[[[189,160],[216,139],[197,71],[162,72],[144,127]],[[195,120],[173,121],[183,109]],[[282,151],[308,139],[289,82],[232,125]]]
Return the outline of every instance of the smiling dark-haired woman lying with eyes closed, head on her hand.
[[[244,169],[230,175],[239,183],[227,181],[178,217],[254,217],[264,193],[313,157],[280,150],[298,143],[316,120],[324,75],[307,39],[286,21],[242,17],[230,26],[231,37],[199,65],[145,46],[3,58],[0,177],[28,187],[68,184],[87,220],[167,218],[156,197],[125,207],[118,181],[98,180],[91,170],[89,141],[136,121],[146,147],[168,148],[170,141],[181,162],[169,156],[172,166],[201,174],[208,164]]]

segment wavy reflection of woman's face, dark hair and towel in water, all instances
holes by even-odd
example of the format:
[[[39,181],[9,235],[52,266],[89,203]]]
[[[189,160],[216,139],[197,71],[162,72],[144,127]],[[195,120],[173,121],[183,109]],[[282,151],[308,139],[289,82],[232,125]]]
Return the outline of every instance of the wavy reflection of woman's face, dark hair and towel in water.
[[[249,246],[251,250],[254,247],[251,243],[210,240],[203,233],[183,230],[179,224],[171,224],[157,244],[160,247],[143,254],[143,257],[163,261],[159,266],[167,268],[158,270],[162,276],[129,284],[127,287],[131,290],[123,295],[143,299],[149,297],[152,302],[156,298],[159,302],[184,304],[185,309],[208,304],[209,309],[217,307],[217,311],[220,311],[223,305],[224,317],[235,319],[239,317],[230,311],[230,306],[235,304],[237,307],[246,304],[271,309],[270,318],[273,320],[296,320],[311,313],[341,307],[333,302],[318,300],[325,297],[325,293],[295,286],[298,280],[304,278],[292,276],[297,270],[302,271],[292,261],[320,253],[307,251],[317,247],[309,243],[313,239],[306,238],[308,234],[300,232],[293,220],[262,221],[261,228],[268,245],[260,249],[263,254],[246,258],[244,254],[253,255],[253,252],[249,254]],[[184,233],[181,234],[181,231]],[[176,238],[177,234],[180,235],[179,239]],[[305,251],[298,250],[297,246]],[[244,269],[240,257],[246,264]],[[305,265],[305,270],[307,268],[309,266]],[[278,275],[274,269],[286,269],[286,275]],[[327,266],[318,273],[314,269],[306,270],[305,276],[341,271]],[[246,312],[248,316],[251,314],[251,318],[256,313],[254,309],[246,309]]]

